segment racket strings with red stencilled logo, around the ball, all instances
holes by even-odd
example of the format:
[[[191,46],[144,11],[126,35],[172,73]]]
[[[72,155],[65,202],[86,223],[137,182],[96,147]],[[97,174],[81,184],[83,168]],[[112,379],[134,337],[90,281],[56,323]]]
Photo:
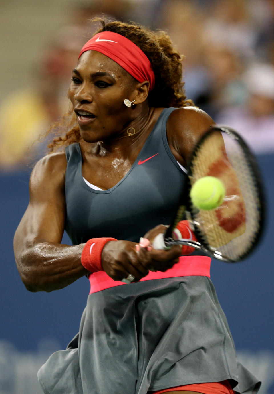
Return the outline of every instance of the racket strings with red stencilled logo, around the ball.
[[[223,182],[226,196],[210,211],[199,211],[190,202],[192,221],[217,258],[239,260],[252,248],[260,230],[262,207],[252,162],[236,139],[212,132],[194,152],[190,183],[207,175]]]

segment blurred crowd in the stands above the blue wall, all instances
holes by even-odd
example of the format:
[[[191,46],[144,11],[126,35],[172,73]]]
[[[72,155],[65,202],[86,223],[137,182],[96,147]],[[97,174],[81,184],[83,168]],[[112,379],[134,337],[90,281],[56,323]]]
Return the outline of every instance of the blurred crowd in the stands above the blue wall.
[[[256,152],[274,151],[273,0],[1,0],[0,11],[3,171],[45,154],[39,136],[68,110],[71,71],[101,15],[166,30],[185,56],[187,97]]]

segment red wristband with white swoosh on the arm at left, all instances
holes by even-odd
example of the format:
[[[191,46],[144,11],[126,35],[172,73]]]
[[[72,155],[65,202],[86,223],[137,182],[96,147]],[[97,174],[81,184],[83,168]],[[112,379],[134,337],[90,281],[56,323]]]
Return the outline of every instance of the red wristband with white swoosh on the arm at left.
[[[104,271],[101,264],[101,253],[108,241],[115,238],[91,238],[88,240],[81,255],[81,263],[89,272]]]

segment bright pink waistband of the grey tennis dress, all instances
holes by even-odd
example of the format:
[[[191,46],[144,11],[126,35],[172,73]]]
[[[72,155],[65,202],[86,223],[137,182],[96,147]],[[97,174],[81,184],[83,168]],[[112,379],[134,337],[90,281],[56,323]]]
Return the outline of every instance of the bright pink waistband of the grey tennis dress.
[[[181,256],[179,262],[165,272],[156,271],[147,274],[142,281],[153,279],[174,278],[178,276],[208,276],[210,278],[211,258],[208,256]],[[93,272],[89,275],[90,292],[96,293],[104,289],[125,284],[121,281],[114,281],[104,271]],[[129,285],[127,285],[129,286]]]

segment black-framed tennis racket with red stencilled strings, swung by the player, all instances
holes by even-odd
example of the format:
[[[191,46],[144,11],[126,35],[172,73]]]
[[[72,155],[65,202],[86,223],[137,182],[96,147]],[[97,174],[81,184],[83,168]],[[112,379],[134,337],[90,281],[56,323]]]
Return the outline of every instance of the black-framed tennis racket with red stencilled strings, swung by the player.
[[[205,177],[214,177],[211,187],[216,186],[215,196],[207,193],[209,178]],[[166,232],[155,238],[153,247],[188,245],[219,260],[240,261],[261,238],[264,206],[261,175],[252,152],[235,130],[212,127],[194,148],[176,214]],[[188,219],[197,241],[172,238],[182,219]]]

